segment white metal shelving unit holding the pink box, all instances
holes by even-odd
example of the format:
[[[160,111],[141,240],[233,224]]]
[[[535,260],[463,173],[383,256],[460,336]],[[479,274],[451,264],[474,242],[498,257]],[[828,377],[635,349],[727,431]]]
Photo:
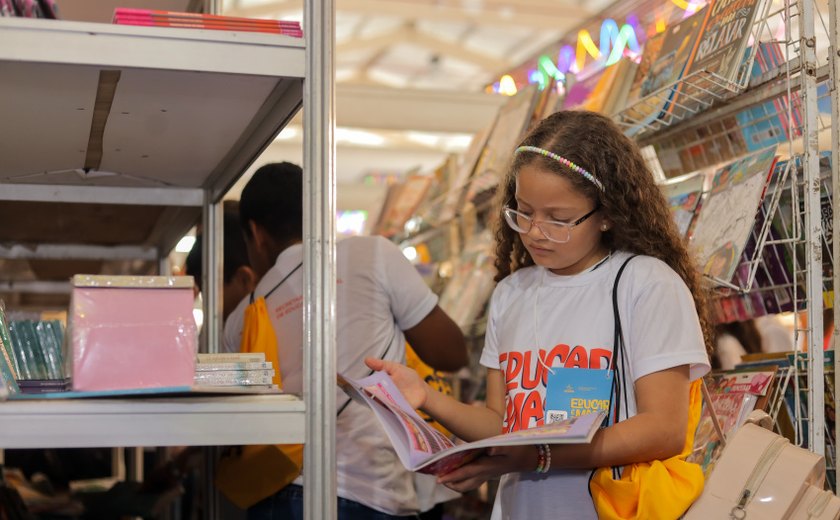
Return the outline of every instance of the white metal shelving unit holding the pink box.
[[[0,230],[2,257],[157,260],[162,270],[165,255],[202,219],[202,349],[218,350],[221,198],[305,99],[309,291],[304,401],[253,395],[4,402],[0,448],[304,442],[306,516],[335,517],[333,27],[330,0],[307,2],[306,43],[0,19],[0,204],[14,206],[17,216]],[[62,211],[73,213],[63,233],[33,224],[44,215],[60,223]],[[61,291],[62,283],[46,290]],[[212,503],[208,513],[218,515]]]

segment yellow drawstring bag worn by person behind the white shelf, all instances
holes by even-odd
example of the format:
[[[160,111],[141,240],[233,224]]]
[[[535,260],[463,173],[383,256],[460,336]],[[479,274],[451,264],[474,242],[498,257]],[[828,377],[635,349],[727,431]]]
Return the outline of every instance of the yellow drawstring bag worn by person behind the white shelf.
[[[252,294],[251,304],[245,309],[239,350],[265,353],[266,361],[274,367],[272,382],[282,388],[277,336],[262,296],[254,300]],[[228,500],[247,509],[292,483],[302,467],[303,444],[243,446],[219,460],[215,484]]]

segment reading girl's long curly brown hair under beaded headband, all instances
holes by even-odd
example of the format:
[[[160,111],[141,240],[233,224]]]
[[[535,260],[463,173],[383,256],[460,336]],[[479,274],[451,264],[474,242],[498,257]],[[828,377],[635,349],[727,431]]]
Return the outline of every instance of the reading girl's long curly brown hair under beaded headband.
[[[559,154],[591,172],[604,191],[554,159],[536,153],[517,154],[500,190],[496,222],[496,281],[522,267],[534,265],[519,234],[510,229],[502,206],[516,208],[516,177],[526,164],[564,176],[582,194],[601,206],[612,224],[603,233],[604,245],[658,258],[685,281],[694,297],[706,348],[713,348],[714,328],[709,319],[708,295],[700,273],[677,231],[671,212],[645,164],[639,147],[609,118],[588,111],[561,111],[540,121],[522,141]]]

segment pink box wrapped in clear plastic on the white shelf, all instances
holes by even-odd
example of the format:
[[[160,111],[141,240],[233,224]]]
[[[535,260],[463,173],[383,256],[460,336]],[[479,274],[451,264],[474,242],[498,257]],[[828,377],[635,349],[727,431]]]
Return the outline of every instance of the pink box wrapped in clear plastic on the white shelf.
[[[73,390],[191,386],[190,276],[73,277],[65,356]]]

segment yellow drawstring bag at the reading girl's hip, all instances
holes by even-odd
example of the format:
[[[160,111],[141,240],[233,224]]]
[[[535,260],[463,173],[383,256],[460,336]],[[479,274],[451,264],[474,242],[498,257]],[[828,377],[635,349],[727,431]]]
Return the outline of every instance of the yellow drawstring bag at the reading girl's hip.
[[[612,468],[595,471],[589,491],[600,520],[676,520],[700,496],[703,470],[685,459],[700,421],[701,385],[699,379],[691,384],[688,433],[679,455],[625,466],[619,480],[613,479]]]

